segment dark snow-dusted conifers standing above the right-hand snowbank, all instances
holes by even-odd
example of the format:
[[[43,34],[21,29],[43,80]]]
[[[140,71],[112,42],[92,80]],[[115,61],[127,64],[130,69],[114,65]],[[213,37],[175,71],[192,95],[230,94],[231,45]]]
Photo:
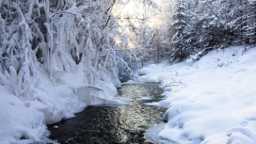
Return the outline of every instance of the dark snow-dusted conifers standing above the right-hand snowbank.
[[[166,40],[171,41],[171,62],[197,60],[216,48],[255,45],[255,1],[179,0],[172,9]]]

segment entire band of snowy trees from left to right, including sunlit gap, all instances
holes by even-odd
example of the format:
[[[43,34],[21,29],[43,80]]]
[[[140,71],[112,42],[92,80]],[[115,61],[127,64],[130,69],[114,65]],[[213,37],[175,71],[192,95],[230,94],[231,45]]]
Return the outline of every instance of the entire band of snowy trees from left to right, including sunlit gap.
[[[2,0],[0,7],[1,83],[19,96],[38,66],[56,83],[55,72],[84,63],[95,85],[118,79],[117,63],[133,75],[144,63],[193,61],[256,38],[252,0]],[[95,78],[98,71],[105,77]]]

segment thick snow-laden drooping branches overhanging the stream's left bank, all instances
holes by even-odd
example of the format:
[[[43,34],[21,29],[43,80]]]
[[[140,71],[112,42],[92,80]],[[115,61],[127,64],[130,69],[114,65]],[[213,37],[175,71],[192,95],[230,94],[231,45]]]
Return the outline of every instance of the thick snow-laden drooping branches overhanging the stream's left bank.
[[[43,66],[58,85],[57,72],[75,72],[76,65],[84,65],[85,85],[110,82],[119,87],[107,4],[106,0],[1,1],[1,84],[29,99],[38,67]]]

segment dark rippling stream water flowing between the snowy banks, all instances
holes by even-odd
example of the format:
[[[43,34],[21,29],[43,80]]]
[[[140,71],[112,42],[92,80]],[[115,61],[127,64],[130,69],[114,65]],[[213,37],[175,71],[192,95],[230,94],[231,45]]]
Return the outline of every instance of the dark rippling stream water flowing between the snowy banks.
[[[165,108],[149,106],[144,103],[161,100],[161,88],[157,84],[127,84],[119,89],[120,97],[131,98],[129,105],[91,106],[75,114],[75,118],[61,120],[48,125],[50,139],[59,143],[151,143],[144,138],[147,129],[162,122]],[[152,100],[138,100],[152,91]],[[58,126],[55,129],[54,126]]]

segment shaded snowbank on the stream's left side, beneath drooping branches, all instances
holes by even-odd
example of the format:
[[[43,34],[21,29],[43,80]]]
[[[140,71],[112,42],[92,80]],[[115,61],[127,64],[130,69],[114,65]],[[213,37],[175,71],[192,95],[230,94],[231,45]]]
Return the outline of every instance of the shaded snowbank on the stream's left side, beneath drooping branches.
[[[39,68],[29,100],[15,96],[0,85],[0,143],[36,143],[49,140],[46,124],[73,118],[88,105],[129,104],[118,99],[117,88],[107,81],[87,86],[83,65],[74,72],[56,72],[52,83],[48,73]]]

